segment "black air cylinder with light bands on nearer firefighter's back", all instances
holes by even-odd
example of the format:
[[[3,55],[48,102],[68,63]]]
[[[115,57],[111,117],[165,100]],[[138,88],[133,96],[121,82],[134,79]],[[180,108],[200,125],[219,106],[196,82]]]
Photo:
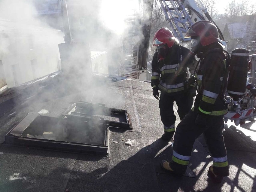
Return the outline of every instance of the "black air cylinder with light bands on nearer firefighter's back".
[[[234,101],[238,101],[246,92],[248,61],[247,49],[237,48],[231,52],[227,93]]]

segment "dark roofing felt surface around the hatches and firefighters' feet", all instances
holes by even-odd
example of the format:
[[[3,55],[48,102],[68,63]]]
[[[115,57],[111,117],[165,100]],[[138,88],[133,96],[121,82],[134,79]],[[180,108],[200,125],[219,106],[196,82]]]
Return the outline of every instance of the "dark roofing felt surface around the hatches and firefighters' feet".
[[[203,137],[196,140],[189,164],[196,177],[176,178],[166,174],[160,161],[171,159],[172,145],[159,139],[163,125],[158,101],[152,95],[150,83],[139,80],[95,74],[92,81],[86,82],[56,73],[11,88],[0,96],[0,143],[29,112],[44,109],[48,111],[46,115],[56,117],[69,107],[69,102],[79,100],[126,109],[133,131],[111,129],[107,157],[1,144],[1,192],[255,191],[255,123],[247,129],[232,123],[226,125],[224,139],[230,176],[221,184],[208,182],[212,158]],[[175,105],[177,126],[176,109]],[[132,146],[125,145],[127,141]]]

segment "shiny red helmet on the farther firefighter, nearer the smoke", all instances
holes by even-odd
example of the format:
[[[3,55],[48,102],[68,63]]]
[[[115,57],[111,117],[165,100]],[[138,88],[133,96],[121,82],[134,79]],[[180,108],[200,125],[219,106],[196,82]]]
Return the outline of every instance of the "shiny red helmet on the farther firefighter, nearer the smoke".
[[[172,32],[167,29],[167,27],[163,27],[159,29],[153,38],[153,46],[160,46],[167,44],[168,47],[172,47],[175,42],[175,37]]]

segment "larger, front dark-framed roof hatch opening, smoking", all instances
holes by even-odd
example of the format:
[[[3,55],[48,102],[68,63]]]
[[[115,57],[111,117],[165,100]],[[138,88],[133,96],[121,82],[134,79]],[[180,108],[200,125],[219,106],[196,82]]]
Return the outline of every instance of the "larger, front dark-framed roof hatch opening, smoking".
[[[5,143],[58,151],[106,155],[109,125],[29,113],[6,136]]]

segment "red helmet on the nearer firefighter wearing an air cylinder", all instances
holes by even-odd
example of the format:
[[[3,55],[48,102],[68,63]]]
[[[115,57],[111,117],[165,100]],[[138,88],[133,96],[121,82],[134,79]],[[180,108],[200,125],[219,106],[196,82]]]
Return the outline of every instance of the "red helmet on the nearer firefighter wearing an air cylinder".
[[[200,37],[201,45],[206,46],[218,41],[218,29],[211,21],[198,21],[187,30],[185,37],[196,36]]]

